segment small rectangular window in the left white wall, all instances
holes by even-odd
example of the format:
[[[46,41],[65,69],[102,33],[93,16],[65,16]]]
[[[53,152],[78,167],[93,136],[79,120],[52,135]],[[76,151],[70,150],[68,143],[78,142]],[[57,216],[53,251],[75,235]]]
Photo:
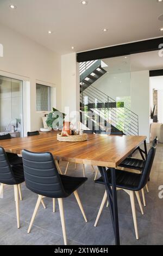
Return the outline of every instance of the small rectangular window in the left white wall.
[[[36,83],[36,110],[51,111],[51,87]]]

